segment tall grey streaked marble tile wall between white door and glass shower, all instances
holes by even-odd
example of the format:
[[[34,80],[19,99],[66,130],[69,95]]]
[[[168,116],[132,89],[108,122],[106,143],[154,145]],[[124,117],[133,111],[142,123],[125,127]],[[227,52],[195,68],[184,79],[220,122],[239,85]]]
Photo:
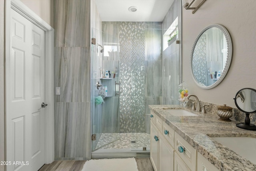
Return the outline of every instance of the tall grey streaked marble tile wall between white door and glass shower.
[[[90,1],[54,0],[55,160],[90,159]]]

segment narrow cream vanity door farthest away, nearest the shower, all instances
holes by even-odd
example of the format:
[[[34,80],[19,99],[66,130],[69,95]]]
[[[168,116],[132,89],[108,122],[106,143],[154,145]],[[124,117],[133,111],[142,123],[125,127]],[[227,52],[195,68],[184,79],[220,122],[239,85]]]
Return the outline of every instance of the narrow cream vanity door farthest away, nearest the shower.
[[[154,171],[158,170],[158,141],[154,138],[154,136],[158,137],[158,129],[156,126],[150,121],[150,161],[154,168]]]

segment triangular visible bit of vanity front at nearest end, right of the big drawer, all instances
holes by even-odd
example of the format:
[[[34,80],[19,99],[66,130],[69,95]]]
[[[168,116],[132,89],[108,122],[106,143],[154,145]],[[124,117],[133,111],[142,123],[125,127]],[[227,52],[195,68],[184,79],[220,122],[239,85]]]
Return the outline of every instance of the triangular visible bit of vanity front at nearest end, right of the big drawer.
[[[197,153],[197,171],[218,171],[218,169],[204,158],[204,156]]]

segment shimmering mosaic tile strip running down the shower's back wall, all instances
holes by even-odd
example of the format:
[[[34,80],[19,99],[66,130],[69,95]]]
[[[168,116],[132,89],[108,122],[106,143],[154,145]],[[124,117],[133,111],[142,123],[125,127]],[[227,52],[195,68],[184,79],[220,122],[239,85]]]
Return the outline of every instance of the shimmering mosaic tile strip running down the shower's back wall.
[[[144,22],[120,22],[120,132],[144,132]]]

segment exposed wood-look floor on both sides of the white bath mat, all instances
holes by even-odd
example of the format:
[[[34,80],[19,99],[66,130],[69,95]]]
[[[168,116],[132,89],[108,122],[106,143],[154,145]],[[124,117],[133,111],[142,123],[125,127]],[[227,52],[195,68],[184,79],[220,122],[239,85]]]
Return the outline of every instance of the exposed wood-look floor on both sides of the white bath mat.
[[[38,171],[81,171],[85,162],[86,160],[54,161],[43,165]],[[149,158],[138,158],[136,162],[139,171],[154,171]]]

